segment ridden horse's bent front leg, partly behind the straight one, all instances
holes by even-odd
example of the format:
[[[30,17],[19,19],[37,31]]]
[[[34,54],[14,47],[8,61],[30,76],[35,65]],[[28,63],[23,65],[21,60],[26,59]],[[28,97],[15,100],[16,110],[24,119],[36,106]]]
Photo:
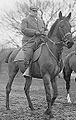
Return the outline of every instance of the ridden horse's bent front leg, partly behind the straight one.
[[[53,105],[53,103],[55,102],[55,99],[58,96],[58,89],[57,89],[56,78],[51,80],[51,85],[52,85],[52,88],[53,88],[53,98],[51,100],[51,105]]]

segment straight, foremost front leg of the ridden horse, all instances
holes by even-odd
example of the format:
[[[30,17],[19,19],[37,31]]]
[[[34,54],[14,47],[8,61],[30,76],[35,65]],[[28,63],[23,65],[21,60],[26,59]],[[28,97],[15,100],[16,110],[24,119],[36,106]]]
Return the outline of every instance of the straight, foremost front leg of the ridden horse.
[[[46,93],[46,100],[48,104],[48,108],[45,111],[45,114],[50,115],[53,118],[52,111],[51,111],[51,92],[50,92],[50,75],[47,73],[43,77],[45,93]]]

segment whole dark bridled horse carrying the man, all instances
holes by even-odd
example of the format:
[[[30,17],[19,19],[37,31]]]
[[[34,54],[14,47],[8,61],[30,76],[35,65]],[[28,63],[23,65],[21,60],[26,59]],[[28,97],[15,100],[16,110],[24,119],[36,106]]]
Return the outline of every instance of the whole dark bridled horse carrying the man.
[[[45,111],[45,114],[52,115],[52,105],[57,98],[58,90],[56,84],[56,76],[60,72],[61,66],[61,54],[63,50],[63,46],[66,46],[68,49],[72,47],[74,44],[72,40],[71,34],[71,25],[69,23],[69,19],[71,17],[71,13],[68,14],[67,17],[62,16],[61,11],[59,12],[59,19],[52,25],[48,36],[48,41],[46,44],[43,44],[41,47],[40,57],[32,63],[30,73],[31,78],[26,77],[26,83],[24,87],[24,91],[28,100],[28,104],[31,110],[34,110],[33,104],[31,102],[29,96],[29,89],[32,83],[32,77],[43,79],[46,100],[48,108]],[[12,53],[13,54],[13,53]],[[9,109],[9,94],[11,91],[11,86],[14,80],[15,75],[18,70],[23,73],[26,70],[26,64],[23,61],[14,61],[14,57],[11,56],[8,59],[8,70],[9,70],[9,81],[6,86],[6,108]],[[12,59],[12,60],[11,60]],[[50,86],[52,84],[53,89],[53,98],[51,99]]]

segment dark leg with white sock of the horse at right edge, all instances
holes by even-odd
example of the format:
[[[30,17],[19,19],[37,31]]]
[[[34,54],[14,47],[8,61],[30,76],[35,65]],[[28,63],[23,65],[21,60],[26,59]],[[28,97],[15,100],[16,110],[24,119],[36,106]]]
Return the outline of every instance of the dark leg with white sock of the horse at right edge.
[[[66,90],[67,90],[67,100],[71,103],[69,90],[70,90],[70,77],[71,77],[72,70],[70,68],[63,68],[63,77],[66,81]]]

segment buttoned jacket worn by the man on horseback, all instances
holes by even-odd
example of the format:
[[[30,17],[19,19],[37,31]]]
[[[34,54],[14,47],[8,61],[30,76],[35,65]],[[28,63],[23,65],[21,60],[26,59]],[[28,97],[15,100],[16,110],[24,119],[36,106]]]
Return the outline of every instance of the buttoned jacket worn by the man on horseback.
[[[24,18],[21,23],[21,31],[23,33],[23,39],[22,44],[30,40],[36,31],[44,30],[44,24],[42,19],[33,17],[32,15],[29,15],[27,18]],[[36,41],[35,38],[34,41]]]

